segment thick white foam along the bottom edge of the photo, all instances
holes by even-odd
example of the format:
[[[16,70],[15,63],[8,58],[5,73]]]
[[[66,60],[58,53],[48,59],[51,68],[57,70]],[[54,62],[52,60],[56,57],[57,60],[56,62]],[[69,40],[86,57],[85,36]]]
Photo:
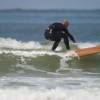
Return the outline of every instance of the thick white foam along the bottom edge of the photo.
[[[0,89],[0,100],[100,100],[100,89]]]

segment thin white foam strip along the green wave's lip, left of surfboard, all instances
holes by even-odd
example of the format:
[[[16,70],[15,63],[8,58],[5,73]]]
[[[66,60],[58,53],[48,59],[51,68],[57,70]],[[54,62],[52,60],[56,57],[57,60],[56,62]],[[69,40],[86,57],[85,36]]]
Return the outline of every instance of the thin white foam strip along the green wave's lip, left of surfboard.
[[[0,50],[0,54],[13,54],[15,56],[24,56],[24,57],[37,57],[44,55],[57,55],[63,57],[64,53],[55,53],[53,51],[44,51],[44,50]]]

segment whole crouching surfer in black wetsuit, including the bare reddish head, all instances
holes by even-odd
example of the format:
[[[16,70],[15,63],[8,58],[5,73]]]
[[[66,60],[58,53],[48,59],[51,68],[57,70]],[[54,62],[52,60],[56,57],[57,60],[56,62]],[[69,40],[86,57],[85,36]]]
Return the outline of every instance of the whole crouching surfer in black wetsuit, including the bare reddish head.
[[[70,49],[69,38],[74,43],[76,42],[74,37],[68,31],[69,21],[64,20],[63,23],[55,22],[49,25],[48,29],[45,30],[45,38],[47,40],[54,41],[52,50],[55,51],[61,39],[64,40],[66,49]]]

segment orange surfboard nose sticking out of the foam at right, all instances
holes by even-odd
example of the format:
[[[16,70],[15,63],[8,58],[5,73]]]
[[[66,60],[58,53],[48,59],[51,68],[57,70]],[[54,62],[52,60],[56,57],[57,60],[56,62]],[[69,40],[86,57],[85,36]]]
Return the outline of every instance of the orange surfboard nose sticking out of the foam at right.
[[[83,49],[77,49],[77,50],[75,50],[75,53],[79,57],[100,53],[100,46],[90,47],[90,48],[83,48]]]

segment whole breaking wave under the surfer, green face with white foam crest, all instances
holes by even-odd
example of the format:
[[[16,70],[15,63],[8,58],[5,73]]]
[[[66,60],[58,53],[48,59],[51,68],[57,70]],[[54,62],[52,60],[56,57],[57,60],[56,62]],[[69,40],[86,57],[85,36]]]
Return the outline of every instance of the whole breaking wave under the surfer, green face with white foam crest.
[[[95,68],[99,69],[100,54],[92,57],[82,58],[80,60],[73,60],[73,56],[70,57],[73,52],[63,51],[62,46],[59,46],[58,52],[53,52],[50,50],[50,45],[51,44],[42,44],[36,41],[22,42],[12,38],[0,38],[1,68],[6,66],[5,68],[7,71],[9,71],[9,69],[13,66],[13,69],[16,71],[16,68],[18,68],[18,65],[20,65],[20,68],[22,68],[22,66],[26,66],[27,69],[26,67],[23,68],[26,70],[29,70],[28,68],[32,68],[33,71],[37,70],[38,72],[54,72],[60,74],[68,71],[80,73],[85,69],[94,73],[99,71],[92,69],[94,66]],[[80,42],[71,44],[71,47],[87,48],[96,45],[99,45],[99,43]],[[91,60],[93,60],[92,66]],[[89,67],[89,65],[91,67]],[[33,68],[33,66],[35,67]],[[84,66],[87,66],[87,68]]]

